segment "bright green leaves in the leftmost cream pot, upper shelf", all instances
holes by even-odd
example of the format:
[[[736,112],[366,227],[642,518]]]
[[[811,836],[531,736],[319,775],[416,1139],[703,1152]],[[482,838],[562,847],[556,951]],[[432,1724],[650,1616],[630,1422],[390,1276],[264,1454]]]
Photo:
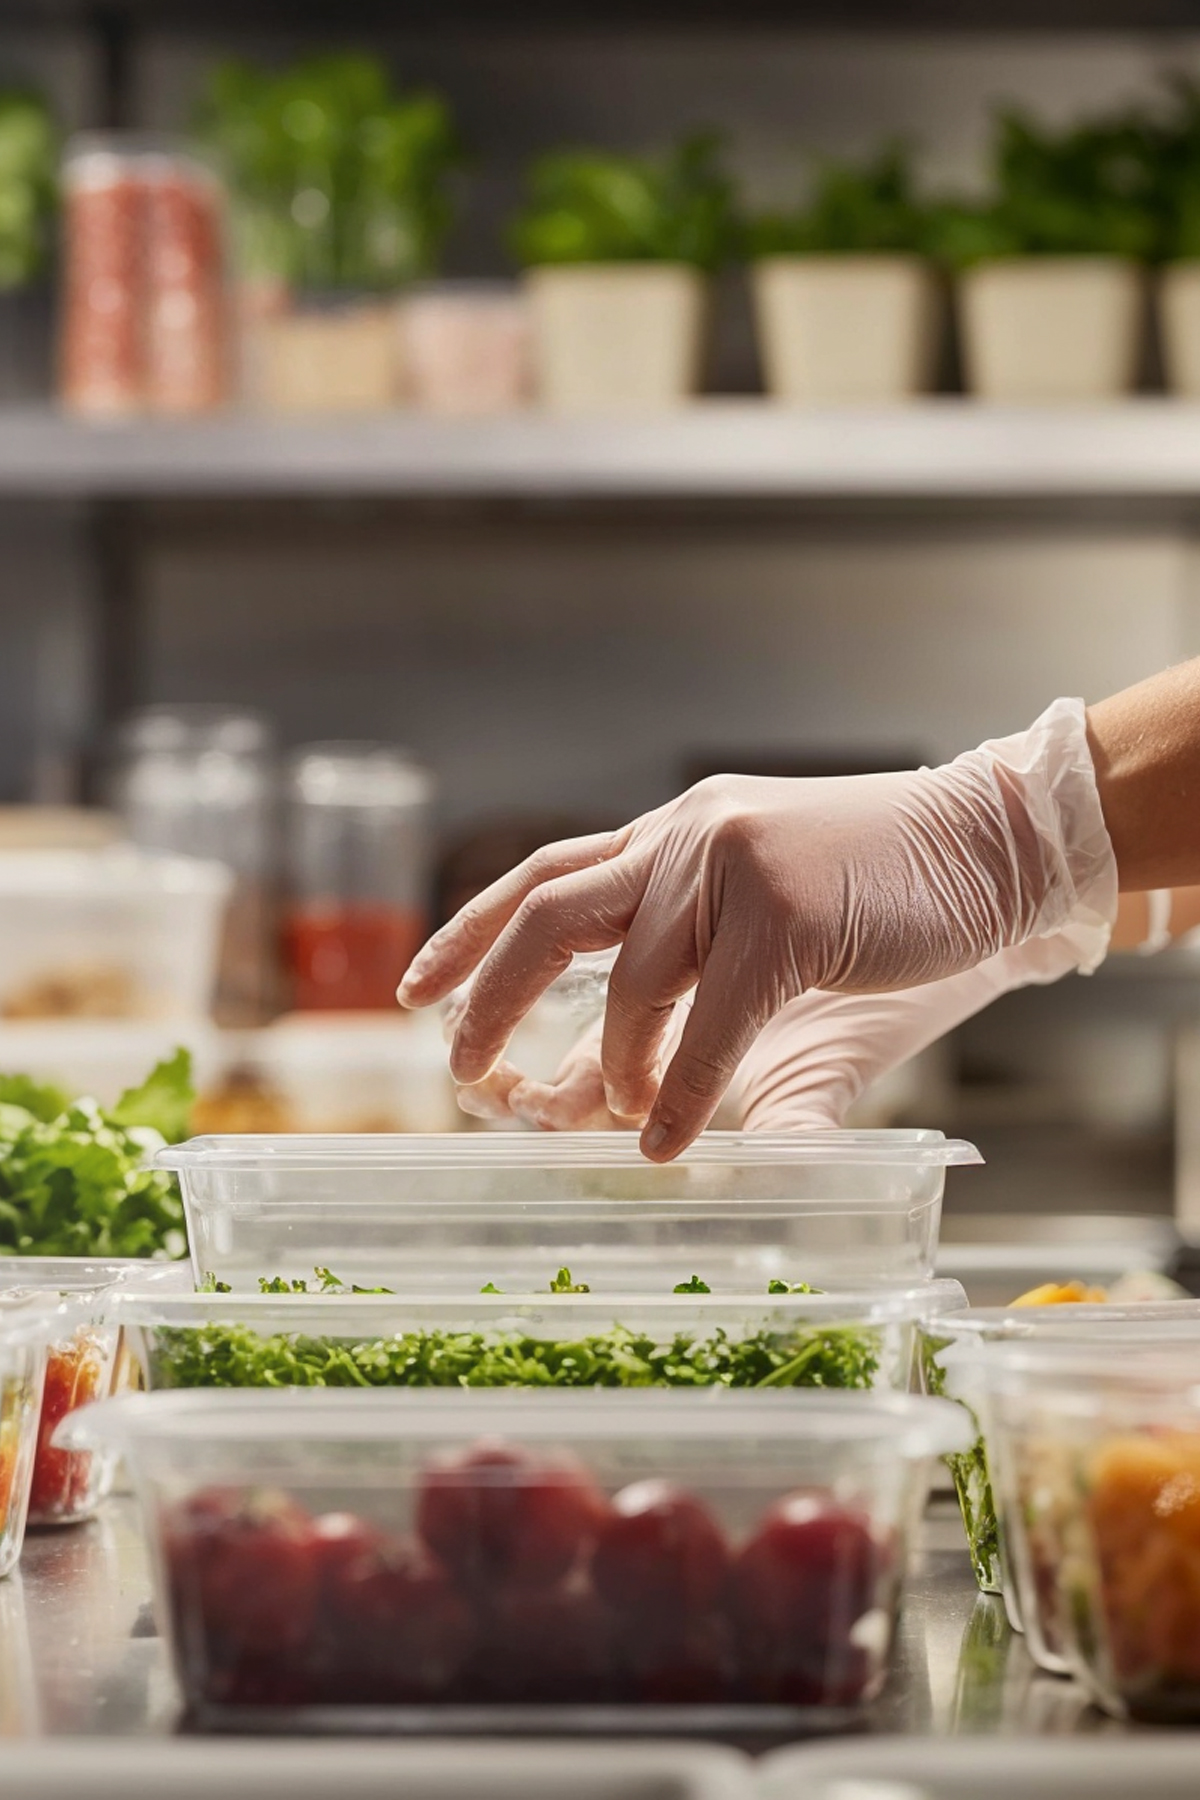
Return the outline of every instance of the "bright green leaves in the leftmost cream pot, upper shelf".
[[[529,205],[511,245],[524,265],[691,263],[714,270],[732,254],[734,189],[711,133],[666,157],[561,149],[529,175]]]

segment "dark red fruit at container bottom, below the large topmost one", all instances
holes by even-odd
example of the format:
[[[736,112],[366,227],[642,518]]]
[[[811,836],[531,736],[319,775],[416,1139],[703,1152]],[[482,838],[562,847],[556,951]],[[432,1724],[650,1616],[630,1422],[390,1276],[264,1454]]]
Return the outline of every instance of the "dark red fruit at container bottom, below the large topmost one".
[[[466,1697],[529,1706],[613,1697],[608,1613],[587,1577],[563,1588],[511,1588],[484,1618],[480,1654]]]

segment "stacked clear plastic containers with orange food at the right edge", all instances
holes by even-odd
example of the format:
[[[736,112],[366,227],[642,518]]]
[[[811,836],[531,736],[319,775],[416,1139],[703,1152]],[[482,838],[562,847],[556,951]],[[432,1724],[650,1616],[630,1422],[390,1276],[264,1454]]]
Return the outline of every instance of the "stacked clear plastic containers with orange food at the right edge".
[[[1036,1665],[1106,1712],[1200,1719],[1200,1301],[930,1321],[932,1393],[970,1413],[952,1472],[975,1575]]]

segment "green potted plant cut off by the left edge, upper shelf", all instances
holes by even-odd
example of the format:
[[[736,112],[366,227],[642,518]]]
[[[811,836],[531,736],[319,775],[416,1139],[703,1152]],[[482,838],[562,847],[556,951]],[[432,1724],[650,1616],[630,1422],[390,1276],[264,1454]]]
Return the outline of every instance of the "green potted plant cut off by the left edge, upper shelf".
[[[58,131],[38,94],[0,92],[0,401],[50,387]]]

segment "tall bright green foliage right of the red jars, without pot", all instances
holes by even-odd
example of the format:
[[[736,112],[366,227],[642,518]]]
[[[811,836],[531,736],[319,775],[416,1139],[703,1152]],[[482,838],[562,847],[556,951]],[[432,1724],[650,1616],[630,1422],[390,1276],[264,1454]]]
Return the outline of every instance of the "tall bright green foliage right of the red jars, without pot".
[[[461,160],[437,94],[398,94],[372,56],[227,61],[198,122],[232,184],[246,274],[322,290],[434,274]]]

